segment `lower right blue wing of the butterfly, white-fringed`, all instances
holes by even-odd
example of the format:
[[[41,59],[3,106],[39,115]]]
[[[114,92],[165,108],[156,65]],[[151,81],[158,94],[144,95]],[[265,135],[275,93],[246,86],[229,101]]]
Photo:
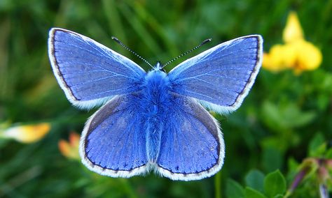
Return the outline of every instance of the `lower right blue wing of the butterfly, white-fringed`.
[[[216,174],[225,156],[219,124],[193,98],[174,95],[173,101],[165,115],[157,172],[184,181]]]

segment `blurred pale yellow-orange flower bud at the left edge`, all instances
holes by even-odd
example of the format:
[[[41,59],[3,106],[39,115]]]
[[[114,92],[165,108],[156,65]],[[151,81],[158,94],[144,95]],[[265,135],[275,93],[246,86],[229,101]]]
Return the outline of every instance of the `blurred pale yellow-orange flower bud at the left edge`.
[[[50,131],[50,123],[18,125],[0,132],[3,138],[15,139],[22,143],[37,142]]]

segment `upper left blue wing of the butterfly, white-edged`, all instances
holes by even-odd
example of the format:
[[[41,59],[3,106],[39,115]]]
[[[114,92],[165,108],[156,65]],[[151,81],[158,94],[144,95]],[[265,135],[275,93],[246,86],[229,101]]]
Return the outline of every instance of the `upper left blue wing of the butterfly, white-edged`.
[[[93,107],[112,96],[137,91],[145,75],[125,56],[66,29],[50,30],[48,55],[57,82],[78,107]]]

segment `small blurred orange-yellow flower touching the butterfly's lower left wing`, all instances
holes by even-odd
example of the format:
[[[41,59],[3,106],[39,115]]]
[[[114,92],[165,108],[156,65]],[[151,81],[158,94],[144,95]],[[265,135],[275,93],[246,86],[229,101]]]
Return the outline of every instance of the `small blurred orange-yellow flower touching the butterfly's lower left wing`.
[[[80,160],[78,153],[78,146],[80,142],[80,136],[76,132],[71,132],[69,135],[69,142],[61,139],[59,141],[59,150],[62,155],[72,160]]]

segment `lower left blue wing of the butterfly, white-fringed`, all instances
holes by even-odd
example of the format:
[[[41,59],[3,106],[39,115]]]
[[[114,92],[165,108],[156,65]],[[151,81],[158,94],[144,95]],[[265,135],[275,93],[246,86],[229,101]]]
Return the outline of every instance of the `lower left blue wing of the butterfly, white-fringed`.
[[[80,143],[83,164],[112,177],[143,174],[146,169],[144,116],[132,94],[114,96],[85,124]]]

